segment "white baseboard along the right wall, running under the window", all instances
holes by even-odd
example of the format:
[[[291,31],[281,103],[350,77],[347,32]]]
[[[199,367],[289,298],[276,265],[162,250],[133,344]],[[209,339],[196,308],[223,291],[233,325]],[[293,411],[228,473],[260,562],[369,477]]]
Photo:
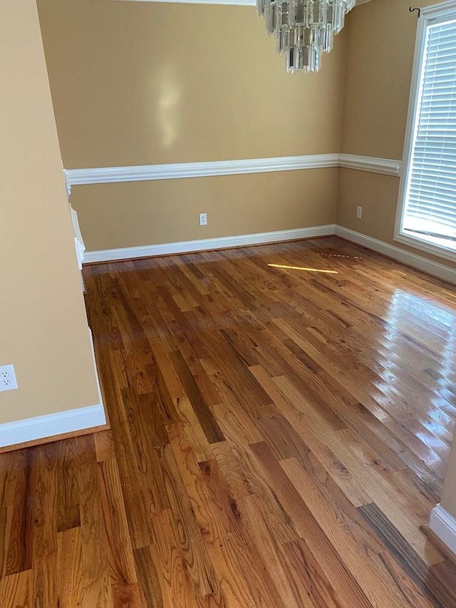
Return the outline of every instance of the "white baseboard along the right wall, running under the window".
[[[423,272],[427,272],[427,274],[432,274],[433,277],[456,284],[456,270],[447,267],[444,264],[433,262],[431,259],[410,253],[405,251],[405,249],[394,247],[393,245],[379,241],[373,237],[362,235],[361,232],[355,232],[355,230],[344,228],[343,226],[336,226],[335,235],[363,247],[368,247],[368,249],[373,249],[373,251],[396,259],[398,262],[402,262],[407,266],[423,270]]]

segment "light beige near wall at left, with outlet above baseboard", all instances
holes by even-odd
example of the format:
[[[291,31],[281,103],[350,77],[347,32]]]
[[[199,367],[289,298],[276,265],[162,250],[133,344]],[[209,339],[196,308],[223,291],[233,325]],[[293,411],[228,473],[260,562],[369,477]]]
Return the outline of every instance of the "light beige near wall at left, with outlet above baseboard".
[[[0,423],[98,403],[34,0],[0,2]]]

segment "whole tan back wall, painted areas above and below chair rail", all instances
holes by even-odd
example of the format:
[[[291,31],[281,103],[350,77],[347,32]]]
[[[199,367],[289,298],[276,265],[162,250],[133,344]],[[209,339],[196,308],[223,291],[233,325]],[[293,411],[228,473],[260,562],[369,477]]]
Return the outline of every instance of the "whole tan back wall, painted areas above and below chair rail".
[[[287,74],[254,6],[38,0],[66,168],[337,152],[345,38]],[[89,250],[333,223],[328,170],[73,187]],[[209,225],[199,228],[197,213]]]

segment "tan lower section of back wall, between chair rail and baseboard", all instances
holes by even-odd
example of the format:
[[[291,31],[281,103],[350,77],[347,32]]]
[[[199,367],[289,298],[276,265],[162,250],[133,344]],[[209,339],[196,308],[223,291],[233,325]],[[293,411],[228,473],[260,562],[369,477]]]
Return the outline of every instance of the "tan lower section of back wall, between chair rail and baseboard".
[[[333,224],[337,185],[334,168],[86,185],[71,200],[90,251]]]

